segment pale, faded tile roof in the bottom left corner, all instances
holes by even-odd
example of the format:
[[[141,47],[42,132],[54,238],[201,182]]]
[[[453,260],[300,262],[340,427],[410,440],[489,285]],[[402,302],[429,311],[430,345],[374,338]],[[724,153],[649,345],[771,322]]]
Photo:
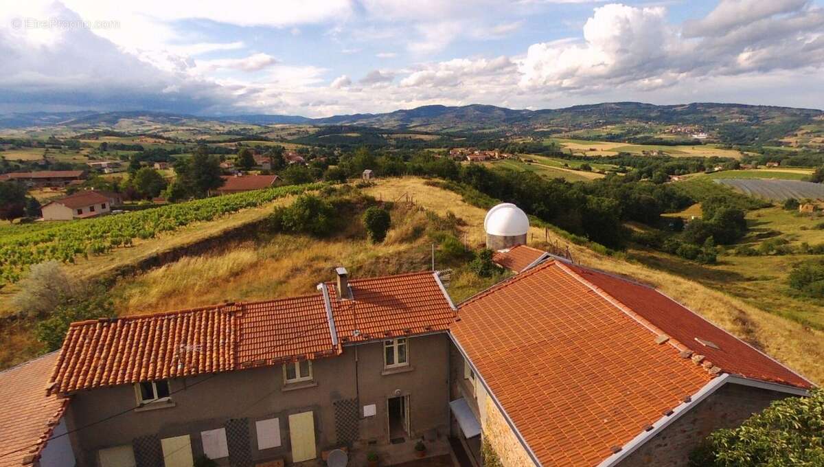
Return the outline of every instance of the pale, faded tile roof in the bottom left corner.
[[[68,399],[46,395],[57,358],[49,353],[0,371],[0,467],[31,464],[63,416]]]

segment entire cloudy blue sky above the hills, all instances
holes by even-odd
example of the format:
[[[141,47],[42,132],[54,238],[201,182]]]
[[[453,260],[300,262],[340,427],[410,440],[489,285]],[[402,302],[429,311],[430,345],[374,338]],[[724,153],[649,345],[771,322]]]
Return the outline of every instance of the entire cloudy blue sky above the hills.
[[[824,109],[822,2],[7,1],[0,112]]]

